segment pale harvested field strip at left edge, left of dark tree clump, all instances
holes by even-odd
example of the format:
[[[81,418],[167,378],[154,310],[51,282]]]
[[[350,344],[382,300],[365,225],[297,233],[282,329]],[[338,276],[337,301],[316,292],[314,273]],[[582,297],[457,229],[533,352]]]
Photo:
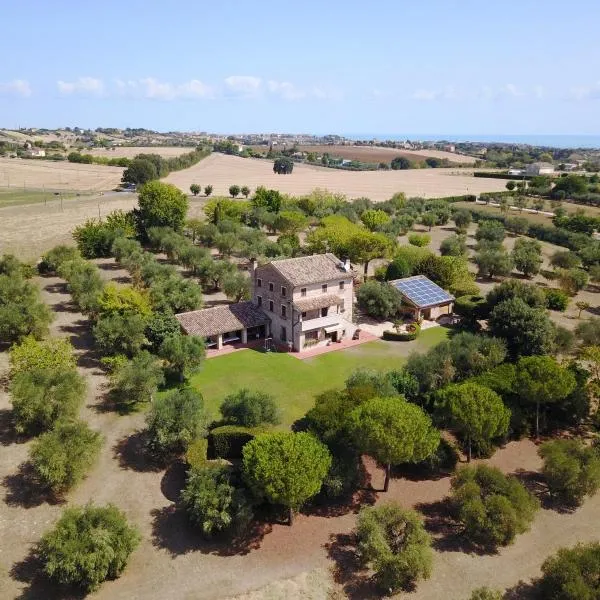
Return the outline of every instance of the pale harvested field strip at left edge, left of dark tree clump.
[[[122,174],[122,167],[0,158],[0,187],[104,191],[115,188]]]

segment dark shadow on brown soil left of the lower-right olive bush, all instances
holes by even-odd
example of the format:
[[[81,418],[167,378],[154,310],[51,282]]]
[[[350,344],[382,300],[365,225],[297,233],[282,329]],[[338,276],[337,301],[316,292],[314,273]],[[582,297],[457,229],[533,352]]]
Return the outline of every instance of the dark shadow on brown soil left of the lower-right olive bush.
[[[450,498],[415,505],[424,517],[425,529],[433,538],[432,547],[438,552],[463,552],[478,556],[496,554],[497,549],[486,548],[468,540],[462,526],[452,518]]]

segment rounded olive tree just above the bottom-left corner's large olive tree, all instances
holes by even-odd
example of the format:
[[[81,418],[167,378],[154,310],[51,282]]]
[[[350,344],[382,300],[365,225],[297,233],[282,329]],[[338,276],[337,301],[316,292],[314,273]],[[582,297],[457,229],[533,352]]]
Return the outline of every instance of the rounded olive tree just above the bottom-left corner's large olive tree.
[[[31,463],[42,485],[63,492],[85,477],[101,446],[102,436],[83,421],[60,422],[34,442]]]

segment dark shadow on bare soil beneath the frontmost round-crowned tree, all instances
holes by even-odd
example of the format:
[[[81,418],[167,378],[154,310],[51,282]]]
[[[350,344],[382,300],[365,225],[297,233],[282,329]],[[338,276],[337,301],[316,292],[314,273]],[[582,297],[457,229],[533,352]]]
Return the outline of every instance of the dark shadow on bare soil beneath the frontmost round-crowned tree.
[[[165,549],[173,558],[190,552],[237,556],[249,554],[260,548],[265,535],[273,529],[271,523],[253,521],[239,536],[227,535],[207,538],[189,521],[185,511],[177,504],[151,511],[152,544]]]

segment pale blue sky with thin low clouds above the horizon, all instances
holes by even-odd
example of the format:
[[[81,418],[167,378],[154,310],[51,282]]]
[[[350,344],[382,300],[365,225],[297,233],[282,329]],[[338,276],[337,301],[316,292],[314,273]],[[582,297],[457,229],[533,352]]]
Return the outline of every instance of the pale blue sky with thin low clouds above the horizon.
[[[29,0],[0,126],[600,134],[598,0]]]

